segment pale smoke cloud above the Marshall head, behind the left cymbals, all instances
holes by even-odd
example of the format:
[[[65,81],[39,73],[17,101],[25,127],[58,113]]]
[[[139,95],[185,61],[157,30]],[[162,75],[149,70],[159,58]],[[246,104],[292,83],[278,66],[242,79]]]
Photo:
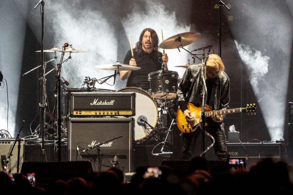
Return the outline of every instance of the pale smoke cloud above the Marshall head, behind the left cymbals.
[[[91,54],[72,53],[72,60],[62,66],[62,76],[70,83],[69,87],[81,87],[85,76],[97,79],[113,74],[112,71],[95,69],[96,65],[111,64],[117,60],[117,41],[114,34],[114,27],[103,17],[99,11],[92,11],[89,8],[75,7],[70,2],[58,2],[49,6],[49,14],[55,16],[51,24],[55,32],[54,39],[58,48],[63,43],[72,44],[77,50],[88,51]],[[64,59],[68,57],[68,53]],[[58,61],[60,56],[58,56]],[[112,80],[108,80],[111,83]],[[99,84],[96,83],[96,87]],[[104,88],[113,89],[103,84]],[[103,88],[101,87],[101,88]]]

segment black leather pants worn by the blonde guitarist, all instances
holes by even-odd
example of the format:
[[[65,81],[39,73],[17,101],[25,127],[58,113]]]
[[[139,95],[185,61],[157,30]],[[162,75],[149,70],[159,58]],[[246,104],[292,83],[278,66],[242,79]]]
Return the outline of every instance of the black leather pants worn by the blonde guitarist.
[[[215,155],[218,157],[219,160],[226,160],[228,158],[228,152],[226,149],[226,137],[221,129],[211,129],[206,128],[206,131],[210,133],[214,139],[214,150]],[[192,133],[183,133],[183,140],[182,140],[182,152],[181,152],[181,159],[191,159],[192,154],[194,152],[195,143],[198,137],[201,137],[201,129],[198,128],[196,131]]]

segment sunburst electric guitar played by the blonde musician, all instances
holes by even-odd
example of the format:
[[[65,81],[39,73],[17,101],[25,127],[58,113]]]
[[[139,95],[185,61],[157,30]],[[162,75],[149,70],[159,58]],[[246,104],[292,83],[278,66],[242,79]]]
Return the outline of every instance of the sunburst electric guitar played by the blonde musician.
[[[187,108],[191,112],[191,116],[195,118],[193,122],[187,121],[187,119],[184,117],[183,112],[180,110],[180,108],[177,111],[176,116],[176,122],[178,129],[183,133],[191,133],[194,132],[198,124],[201,122],[201,107],[196,107],[191,103],[187,103]],[[227,114],[234,114],[239,112],[247,113],[248,115],[255,115],[257,111],[257,107],[255,104],[247,104],[244,108],[233,108],[228,110],[211,110],[208,105],[205,105],[204,108],[205,111],[205,117],[212,117],[215,116],[215,113],[218,115],[227,115]],[[207,123],[205,125],[208,125]]]

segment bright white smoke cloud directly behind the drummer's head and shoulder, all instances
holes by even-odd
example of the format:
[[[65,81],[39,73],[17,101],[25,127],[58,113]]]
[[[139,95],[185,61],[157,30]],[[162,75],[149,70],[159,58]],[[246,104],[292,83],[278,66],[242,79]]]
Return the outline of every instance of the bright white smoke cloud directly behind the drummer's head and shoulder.
[[[154,29],[159,37],[160,43],[162,42],[161,29],[163,29],[164,40],[176,34],[183,32],[189,32],[190,26],[180,23],[175,16],[175,12],[171,12],[165,9],[165,6],[161,3],[153,0],[146,2],[145,11],[136,5],[133,8],[132,13],[127,15],[127,18],[122,19],[122,25],[125,29],[127,36],[130,34],[132,47],[135,47],[135,43],[139,40],[141,31],[145,28]],[[130,47],[128,48],[128,50]],[[186,47],[188,49],[188,47]],[[127,51],[127,50],[126,50]],[[125,53],[126,53],[125,51]],[[163,49],[160,50],[163,52]],[[181,49],[179,52],[177,49],[166,49],[165,53],[168,54],[168,69],[179,73],[182,77],[185,69],[174,68],[174,66],[187,64],[188,53]]]

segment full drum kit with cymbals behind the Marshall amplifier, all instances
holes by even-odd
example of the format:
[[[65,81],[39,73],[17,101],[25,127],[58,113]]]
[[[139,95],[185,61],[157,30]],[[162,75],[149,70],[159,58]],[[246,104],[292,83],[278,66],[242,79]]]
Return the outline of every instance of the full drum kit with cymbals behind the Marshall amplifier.
[[[165,41],[162,41],[161,44],[159,45],[160,48],[163,49],[175,49],[177,48],[180,51],[180,48],[186,50],[183,48],[184,46],[187,46],[194,41],[196,41],[200,37],[200,34],[197,32],[186,32],[186,33],[181,33],[174,35],[172,37],[169,37]],[[203,50],[206,48],[211,48],[211,46],[204,47],[204,48],[199,48],[194,51],[199,51]],[[63,50],[60,48],[57,48],[56,45],[48,50],[44,50],[44,52],[54,52],[55,56],[51,58],[49,61],[45,62],[48,63],[54,59],[57,59],[56,57],[56,52],[62,52]],[[187,51],[187,50],[186,50]],[[40,52],[40,51],[36,51]],[[86,53],[89,54],[87,51],[80,51],[76,50],[70,45],[68,48],[65,49],[65,52],[68,52],[70,55],[69,57],[64,60],[63,62],[67,62],[69,59],[71,59],[71,53]],[[193,63],[195,61],[195,58],[198,58],[197,55],[192,53],[193,51],[188,51],[191,57],[193,58]],[[200,58],[198,58],[200,59]],[[181,68],[187,68],[191,64],[188,59],[188,63],[186,65],[182,66],[175,66],[175,67],[181,67]],[[38,66],[40,67],[40,66]],[[35,67],[34,69],[37,69],[38,67]],[[113,75],[103,77],[101,79],[90,79],[89,77],[85,77],[84,84],[86,84],[86,87],[83,88],[66,88],[63,87],[63,134],[66,139],[66,131],[68,128],[68,116],[69,116],[69,101],[70,101],[70,93],[71,92],[101,92],[101,91],[107,91],[107,92],[136,92],[136,115],[133,116],[135,118],[135,121],[141,117],[144,116],[146,121],[152,126],[152,127],[161,127],[161,128],[166,128],[167,126],[167,119],[166,116],[168,114],[168,109],[173,107],[173,102],[175,101],[176,94],[177,94],[177,89],[178,89],[178,83],[180,82],[180,78],[177,72],[175,71],[168,71],[168,70],[159,70],[155,72],[151,72],[148,74],[148,81],[150,82],[150,89],[148,91],[142,90],[141,88],[136,88],[136,87],[125,87],[121,88],[117,91],[114,90],[108,90],[108,89],[99,89],[95,88],[95,83],[98,82],[99,84],[102,84],[106,82],[109,78],[114,77],[114,83],[115,83],[115,78],[117,75],[119,75],[120,70],[132,70],[132,71],[139,71],[139,67],[137,66],[130,66],[127,64],[121,64],[119,61],[117,61],[114,64],[103,64],[103,65],[98,65],[95,66],[97,69],[102,69],[102,70],[111,70],[115,71]],[[28,71],[27,73],[33,71],[34,69]],[[47,72],[45,75],[49,74],[52,72],[55,68],[51,69],[49,72]],[[27,73],[24,73],[26,75]],[[23,76],[24,76],[23,75]],[[100,81],[100,82],[99,82]],[[113,85],[114,85],[113,83]],[[169,114],[170,115],[170,114]],[[171,117],[171,115],[170,115]],[[55,124],[55,123],[54,123]],[[49,134],[49,139],[53,138],[55,133],[52,135],[49,133],[48,129],[49,128],[54,128],[54,132],[56,130],[55,125],[51,125],[45,129],[47,130],[46,134]],[[138,142],[143,142],[144,140],[149,139],[149,137],[154,137],[155,140],[160,140],[160,136],[156,132],[152,132],[152,128],[147,128],[146,126],[136,126],[135,128],[135,140]],[[33,135],[36,135],[39,132],[38,129],[35,130]],[[57,130],[56,130],[57,132]]]

